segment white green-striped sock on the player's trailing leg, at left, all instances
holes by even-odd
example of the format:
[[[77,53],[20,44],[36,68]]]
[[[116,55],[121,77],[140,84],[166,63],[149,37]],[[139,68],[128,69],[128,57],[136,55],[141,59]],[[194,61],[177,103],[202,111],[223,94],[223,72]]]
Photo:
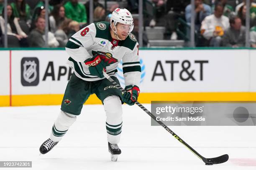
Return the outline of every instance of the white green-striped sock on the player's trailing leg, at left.
[[[69,127],[76,121],[76,119],[77,116],[71,115],[61,110],[52,127],[50,139],[54,142],[59,142],[61,138],[67,133]]]

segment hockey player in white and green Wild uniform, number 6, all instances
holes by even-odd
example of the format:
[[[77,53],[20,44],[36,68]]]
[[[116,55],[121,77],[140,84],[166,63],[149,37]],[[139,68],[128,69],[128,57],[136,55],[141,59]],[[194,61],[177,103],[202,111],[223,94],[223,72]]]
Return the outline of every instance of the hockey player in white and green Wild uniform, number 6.
[[[138,99],[141,66],[138,42],[131,33],[133,18],[126,9],[116,8],[108,22],[92,23],[72,35],[66,45],[69,66],[74,70],[61,103],[61,112],[52,127],[51,135],[40,147],[48,153],[67,133],[81,113],[91,94],[102,101],[106,113],[108,150],[111,160],[121,153],[118,143],[122,131],[122,101],[134,105]],[[123,60],[125,90],[113,87],[102,70],[116,78],[118,63]],[[118,82],[119,83],[119,82]]]

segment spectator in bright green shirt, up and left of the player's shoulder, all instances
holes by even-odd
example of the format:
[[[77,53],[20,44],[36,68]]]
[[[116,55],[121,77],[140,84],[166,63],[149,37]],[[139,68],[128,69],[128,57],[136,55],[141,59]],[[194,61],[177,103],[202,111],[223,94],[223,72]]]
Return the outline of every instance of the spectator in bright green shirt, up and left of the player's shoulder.
[[[69,0],[64,8],[67,18],[77,21],[80,25],[87,23],[86,9],[78,0]]]

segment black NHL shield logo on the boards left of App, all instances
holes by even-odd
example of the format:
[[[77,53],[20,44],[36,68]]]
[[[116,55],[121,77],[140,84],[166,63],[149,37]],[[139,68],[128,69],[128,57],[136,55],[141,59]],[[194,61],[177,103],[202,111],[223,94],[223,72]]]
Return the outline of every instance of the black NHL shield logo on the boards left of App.
[[[21,84],[36,86],[39,83],[39,61],[36,57],[23,57],[21,60]]]

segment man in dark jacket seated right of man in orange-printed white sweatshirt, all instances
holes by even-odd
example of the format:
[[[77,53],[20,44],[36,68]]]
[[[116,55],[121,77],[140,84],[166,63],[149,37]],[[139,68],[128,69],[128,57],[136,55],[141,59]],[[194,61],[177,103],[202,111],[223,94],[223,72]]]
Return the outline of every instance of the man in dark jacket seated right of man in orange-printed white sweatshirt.
[[[238,16],[230,17],[230,28],[225,30],[223,35],[223,46],[225,47],[244,47],[246,29],[242,26],[241,19]]]

